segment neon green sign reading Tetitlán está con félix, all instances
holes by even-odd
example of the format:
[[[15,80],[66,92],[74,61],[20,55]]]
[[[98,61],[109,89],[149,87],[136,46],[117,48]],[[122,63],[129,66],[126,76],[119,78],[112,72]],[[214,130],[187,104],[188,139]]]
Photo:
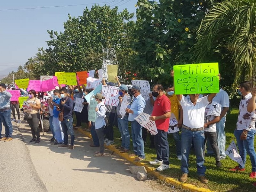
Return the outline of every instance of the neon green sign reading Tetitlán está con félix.
[[[175,94],[218,93],[218,63],[174,65]]]

